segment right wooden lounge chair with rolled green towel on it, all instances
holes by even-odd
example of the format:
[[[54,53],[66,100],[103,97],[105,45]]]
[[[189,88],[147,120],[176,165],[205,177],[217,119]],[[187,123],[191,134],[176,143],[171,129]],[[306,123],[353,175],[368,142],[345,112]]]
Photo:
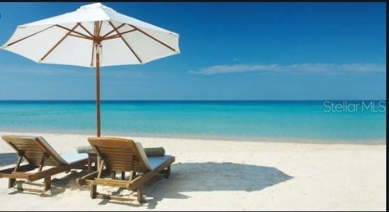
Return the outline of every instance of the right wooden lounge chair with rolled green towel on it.
[[[90,137],[88,139],[98,157],[98,171],[77,179],[77,184],[90,185],[91,198],[130,201],[128,197],[102,195],[96,192],[97,185],[108,185],[137,192],[137,201],[142,203],[142,185],[156,174],[170,175],[173,156],[146,157],[142,144],[130,139],[116,137]],[[105,168],[103,168],[105,167]],[[116,179],[116,172],[121,172],[121,179]],[[125,172],[130,172],[125,179]],[[106,177],[111,174],[111,179]]]

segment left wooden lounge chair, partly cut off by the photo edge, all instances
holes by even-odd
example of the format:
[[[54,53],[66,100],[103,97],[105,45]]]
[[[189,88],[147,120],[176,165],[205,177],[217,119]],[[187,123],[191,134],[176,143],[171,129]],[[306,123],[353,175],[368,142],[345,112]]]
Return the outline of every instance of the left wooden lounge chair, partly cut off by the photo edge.
[[[87,154],[66,153],[60,156],[43,137],[5,135],[2,138],[15,149],[18,155],[15,167],[0,170],[0,178],[9,179],[8,188],[15,186],[16,179],[25,179],[31,183],[45,179],[43,190],[22,187],[18,189],[46,192],[51,187],[54,174],[69,172],[70,169],[84,169],[87,164]],[[23,158],[28,164],[20,165]]]

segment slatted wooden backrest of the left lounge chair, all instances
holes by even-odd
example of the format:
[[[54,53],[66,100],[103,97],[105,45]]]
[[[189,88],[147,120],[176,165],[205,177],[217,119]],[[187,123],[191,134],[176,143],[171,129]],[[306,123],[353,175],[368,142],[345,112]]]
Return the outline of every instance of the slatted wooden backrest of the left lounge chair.
[[[40,165],[43,156],[46,156],[45,166],[68,164],[43,137],[4,135],[1,138],[15,149],[19,156],[24,156],[33,165]]]

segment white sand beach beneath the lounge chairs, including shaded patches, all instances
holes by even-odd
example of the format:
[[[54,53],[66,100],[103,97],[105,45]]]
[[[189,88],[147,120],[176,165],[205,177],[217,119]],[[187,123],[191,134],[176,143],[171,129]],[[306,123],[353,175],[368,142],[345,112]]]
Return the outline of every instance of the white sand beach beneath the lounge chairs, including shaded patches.
[[[0,132],[1,135],[20,133]],[[33,134],[28,134],[33,135]],[[87,135],[40,134],[59,153],[88,145]],[[1,210],[379,210],[386,209],[386,145],[296,144],[133,137],[176,156],[171,178],[155,177],[146,202],[90,199],[77,188],[84,173],[55,176],[45,195],[8,189],[0,179]],[[0,142],[0,167],[16,154]],[[103,188],[100,192],[114,192]]]

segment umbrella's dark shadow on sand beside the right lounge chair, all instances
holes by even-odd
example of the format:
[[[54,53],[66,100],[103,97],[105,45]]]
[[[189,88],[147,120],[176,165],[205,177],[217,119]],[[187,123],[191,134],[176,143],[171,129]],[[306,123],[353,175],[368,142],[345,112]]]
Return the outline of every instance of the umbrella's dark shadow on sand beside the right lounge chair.
[[[148,209],[155,209],[158,202],[164,198],[190,198],[181,192],[259,191],[292,178],[293,176],[284,174],[275,167],[233,162],[179,162],[171,165],[170,179],[158,175],[145,183],[142,205]],[[100,204],[107,204],[107,202],[111,201],[102,200]]]

